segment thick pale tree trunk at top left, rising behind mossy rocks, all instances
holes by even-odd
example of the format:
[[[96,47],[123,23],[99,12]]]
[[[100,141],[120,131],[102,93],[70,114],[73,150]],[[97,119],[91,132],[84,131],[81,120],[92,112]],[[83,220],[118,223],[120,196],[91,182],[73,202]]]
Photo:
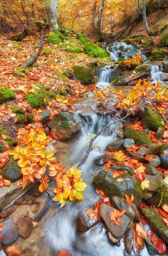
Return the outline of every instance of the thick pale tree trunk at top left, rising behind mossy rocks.
[[[46,13],[48,19],[49,29],[55,31],[59,29],[59,12],[57,0],[46,0]]]

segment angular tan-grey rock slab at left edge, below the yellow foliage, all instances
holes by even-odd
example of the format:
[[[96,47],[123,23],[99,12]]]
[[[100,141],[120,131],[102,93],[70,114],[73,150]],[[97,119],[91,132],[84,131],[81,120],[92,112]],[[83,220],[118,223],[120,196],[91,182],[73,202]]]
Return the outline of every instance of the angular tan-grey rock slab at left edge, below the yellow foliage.
[[[25,192],[28,187],[31,185],[29,184],[23,189],[22,186],[18,186],[17,182],[11,183],[10,186],[3,186],[0,188],[0,210],[7,207],[11,202],[14,201],[18,196],[20,196],[23,192]]]

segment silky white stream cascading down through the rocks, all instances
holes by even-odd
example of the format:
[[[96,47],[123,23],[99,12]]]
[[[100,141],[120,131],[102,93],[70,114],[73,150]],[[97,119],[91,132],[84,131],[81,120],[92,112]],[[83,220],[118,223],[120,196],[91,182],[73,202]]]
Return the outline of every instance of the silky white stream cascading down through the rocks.
[[[134,55],[141,54],[139,49],[135,49],[132,45],[125,43],[114,43],[110,51],[111,60],[117,61],[121,58],[121,49],[125,50],[125,56],[122,58],[127,59]],[[109,51],[109,47],[107,48]],[[146,57],[142,55],[144,60]],[[156,81],[164,81],[164,73],[160,70],[159,65],[150,65],[151,78]],[[112,72],[108,66],[102,68],[98,88],[107,87],[109,84],[109,75]],[[165,82],[166,84],[166,82]],[[122,90],[128,93],[128,87],[115,87],[117,90]],[[115,104],[115,96],[111,99],[112,104]],[[73,137],[72,140],[58,143],[56,154],[57,161],[61,162],[65,168],[71,168],[73,165],[78,165],[83,159],[85,152],[88,149],[88,143],[91,137],[97,134],[105,125],[113,121],[111,115],[97,115],[96,103],[94,102],[93,93],[88,93],[78,102],[73,105],[73,111],[78,113],[83,120],[83,128],[80,132]],[[111,125],[105,130],[93,143],[93,150],[90,152],[87,160],[80,168],[83,181],[88,185],[83,192],[83,201],[70,202],[67,201],[65,206],[61,206],[59,202],[51,203],[48,211],[43,215],[40,223],[34,229],[32,235],[28,239],[19,237],[15,244],[21,251],[26,251],[29,248],[29,253],[23,255],[32,256],[56,256],[61,250],[67,250],[71,256],[125,256],[123,239],[117,245],[113,245],[108,239],[108,230],[100,222],[95,227],[87,232],[79,232],[75,227],[75,220],[82,214],[86,215],[87,209],[94,208],[94,203],[98,201],[100,195],[97,194],[95,187],[91,184],[92,178],[102,169],[94,165],[94,160],[104,154],[106,145],[113,143],[117,138],[117,131],[122,126],[121,122]],[[53,143],[54,145],[54,143]],[[51,180],[49,190],[52,192],[54,188],[54,181]],[[54,193],[53,193],[54,194]],[[41,197],[42,204],[48,201],[47,195],[43,193]],[[37,198],[38,199],[38,198]],[[37,200],[38,201],[38,200]],[[26,205],[20,206],[26,211]],[[90,221],[91,223],[92,221]],[[43,234],[43,235],[41,235]],[[31,254],[32,253],[32,254]],[[131,256],[136,255],[132,250]],[[148,256],[146,247],[140,252],[140,255]]]

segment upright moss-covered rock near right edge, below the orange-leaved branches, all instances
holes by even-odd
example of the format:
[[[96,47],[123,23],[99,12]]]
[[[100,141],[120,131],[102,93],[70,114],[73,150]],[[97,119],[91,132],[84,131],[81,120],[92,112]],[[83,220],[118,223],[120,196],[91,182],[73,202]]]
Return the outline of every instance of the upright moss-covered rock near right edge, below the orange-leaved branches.
[[[148,129],[152,131],[157,131],[159,127],[165,129],[165,125],[163,124],[162,117],[151,110],[149,107],[144,108],[144,114],[142,116],[143,129]]]

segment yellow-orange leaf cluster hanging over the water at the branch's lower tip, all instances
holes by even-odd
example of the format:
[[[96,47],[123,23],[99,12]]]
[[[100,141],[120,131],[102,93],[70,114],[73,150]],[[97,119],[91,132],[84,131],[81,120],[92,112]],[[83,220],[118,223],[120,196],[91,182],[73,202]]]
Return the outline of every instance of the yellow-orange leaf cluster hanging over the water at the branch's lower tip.
[[[87,185],[80,177],[81,170],[78,170],[76,166],[72,166],[65,174],[65,167],[61,166],[60,162],[50,164],[49,169],[51,170],[49,175],[52,176],[52,179],[57,184],[57,187],[53,190],[56,193],[54,201],[60,201],[60,204],[65,205],[68,197],[71,201],[83,199],[82,191]]]

